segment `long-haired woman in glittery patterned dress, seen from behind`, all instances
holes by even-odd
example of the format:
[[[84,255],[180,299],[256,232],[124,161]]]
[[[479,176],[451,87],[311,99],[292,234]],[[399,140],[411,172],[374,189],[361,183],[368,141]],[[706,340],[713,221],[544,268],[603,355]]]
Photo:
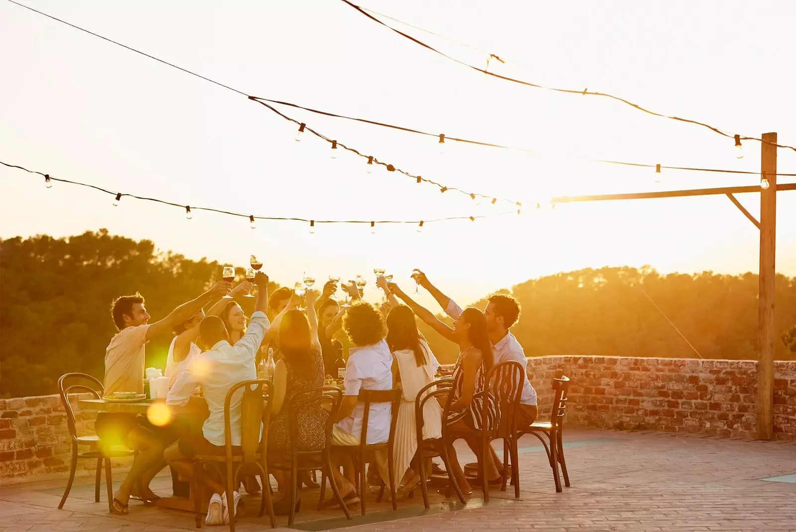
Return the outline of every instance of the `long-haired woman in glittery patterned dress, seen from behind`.
[[[279,348],[283,358],[276,363],[274,371],[274,398],[271,403],[271,428],[268,432],[268,452],[276,455],[289,453],[291,450],[291,414],[287,403],[298,394],[299,400],[310,399],[307,390],[323,386],[323,359],[321,344],[318,341],[318,320],[314,309],[315,296],[311,291],[306,293],[306,316],[298,309],[287,309],[282,313],[275,326],[279,327]],[[300,451],[315,451],[326,445],[326,418],[329,414],[320,404],[308,406],[300,410],[298,419],[298,441],[296,447]],[[287,515],[290,511],[290,495],[287,487],[291,486],[290,474],[274,472],[274,476],[283,487],[279,500],[274,503],[274,511],[278,515]],[[301,484],[299,484],[299,487]],[[298,491],[298,501],[301,491]]]

